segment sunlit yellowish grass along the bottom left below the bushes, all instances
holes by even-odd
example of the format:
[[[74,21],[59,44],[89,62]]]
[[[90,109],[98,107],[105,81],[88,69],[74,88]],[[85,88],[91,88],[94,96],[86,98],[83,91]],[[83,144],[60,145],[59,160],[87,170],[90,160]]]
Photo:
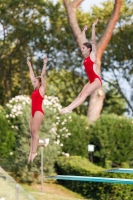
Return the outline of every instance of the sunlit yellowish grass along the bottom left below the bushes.
[[[80,194],[74,193],[56,182],[44,183],[44,192],[40,184],[19,184],[19,200],[82,200]],[[16,183],[0,177],[0,198],[5,200],[16,199]],[[33,197],[33,198],[32,198]]]

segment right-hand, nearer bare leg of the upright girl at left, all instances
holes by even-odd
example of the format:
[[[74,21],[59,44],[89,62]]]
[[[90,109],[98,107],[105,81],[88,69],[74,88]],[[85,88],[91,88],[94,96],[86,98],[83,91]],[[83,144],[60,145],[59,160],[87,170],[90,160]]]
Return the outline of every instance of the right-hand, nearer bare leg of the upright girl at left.
[[[36,111],[34,114],[34,118],[32,120],[32,154],[31,154],[31,161],[35,158],[37,155],[37,147],[39,144],[39,129],[41,126],[41,123],[44,119],[44,115],[40,111]]]

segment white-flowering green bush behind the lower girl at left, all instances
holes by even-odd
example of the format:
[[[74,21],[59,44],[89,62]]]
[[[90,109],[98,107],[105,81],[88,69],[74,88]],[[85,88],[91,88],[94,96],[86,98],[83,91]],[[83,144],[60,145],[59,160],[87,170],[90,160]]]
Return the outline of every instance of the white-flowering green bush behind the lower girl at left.
[[[45,97],[45,118],[40,129],[40,138],[50,139],[50,144],[44,148],[44,172],[54,173],[54,162],[60,153],[60,146],[56,144],[56,121],[58,98]],[[10,163],[10,170],[15,178],[21,182],[39,181],[41,159],[38,149],[38,156],[33,164],[28,164],[29,144],[30,144],[30,98],[26,96],[16,96],[6,105],[6,117],[11,124],[15,134],[13,163]],[[54,113],[54,115],[53,115]]]

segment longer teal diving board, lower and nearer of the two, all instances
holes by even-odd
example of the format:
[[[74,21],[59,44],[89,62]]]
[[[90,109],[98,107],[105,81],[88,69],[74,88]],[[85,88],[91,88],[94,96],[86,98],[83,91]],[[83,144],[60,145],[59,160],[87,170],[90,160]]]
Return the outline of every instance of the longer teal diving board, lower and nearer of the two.
[[[66,175],[47,176],[46,178],[67,180],[67,181],[133,184],[133,179],[124,179],[124,178],[103,178],[103,177],[91,177],[91,176],[66,176]]]

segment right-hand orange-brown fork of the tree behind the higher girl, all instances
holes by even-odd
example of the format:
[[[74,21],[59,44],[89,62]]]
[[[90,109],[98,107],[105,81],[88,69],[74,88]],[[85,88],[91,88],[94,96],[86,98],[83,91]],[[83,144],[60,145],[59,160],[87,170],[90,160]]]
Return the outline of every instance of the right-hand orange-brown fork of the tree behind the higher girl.
[[[98,60],[101,60],[102,54],[111,39],[114,27],[116,25],[116,22],[119,19],[121,4],[122,4],[122,0],[115,0],[114,10],[110,17],[110,20],[108,21],[107,27],[106,27],[100,41],[97,44],[97,59]]]

